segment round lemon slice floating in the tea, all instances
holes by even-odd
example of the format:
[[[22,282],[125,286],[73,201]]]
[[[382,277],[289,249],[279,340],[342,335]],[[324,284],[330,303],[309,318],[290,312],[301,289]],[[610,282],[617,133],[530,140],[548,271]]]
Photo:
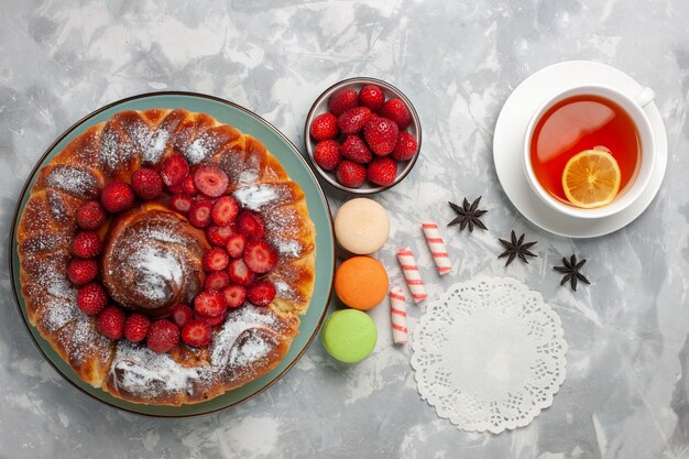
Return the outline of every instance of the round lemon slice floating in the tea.
[[[562,172],[567,199],[577,207],[591,209],[610,204],[620,192],[622,174],[608,149],[597,147],[573,155]]]

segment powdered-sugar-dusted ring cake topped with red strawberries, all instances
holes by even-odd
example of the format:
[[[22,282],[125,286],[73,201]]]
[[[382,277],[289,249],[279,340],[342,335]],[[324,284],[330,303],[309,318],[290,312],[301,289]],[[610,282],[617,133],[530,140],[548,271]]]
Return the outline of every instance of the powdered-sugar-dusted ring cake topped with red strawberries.
[[[21,216],[31,324],[85,382],[198,403],[273,369],[315,278],[304,193],[204,113],[123,111],[39,173]]]

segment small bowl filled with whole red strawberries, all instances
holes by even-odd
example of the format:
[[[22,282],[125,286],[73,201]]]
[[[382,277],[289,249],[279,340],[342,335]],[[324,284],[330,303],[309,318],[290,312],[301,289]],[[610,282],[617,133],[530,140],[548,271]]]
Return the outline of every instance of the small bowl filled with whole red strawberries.
[[[422,144],[414,106],[375,78],[349,78],[316,99],[304,128],[306,152],[330,185],[358,195],[387,189],[412,171]]]

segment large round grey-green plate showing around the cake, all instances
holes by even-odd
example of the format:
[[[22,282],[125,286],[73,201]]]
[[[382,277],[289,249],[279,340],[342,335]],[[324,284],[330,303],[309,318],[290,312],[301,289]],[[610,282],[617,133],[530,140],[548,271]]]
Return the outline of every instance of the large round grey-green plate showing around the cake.
[[[51,345],[29,323],[26,305],[21,295],[21,284],[19,282],[17,226],[40,168],[47,164],[55,154],[87,128],[108,120],[118,111],[147,110],[152,108],[184,108],[194,112],[208,113],[219,122],[233,125],[240,131],[259,139],[280,160],[289,177],[304,190],[309,217],[316,226],[317,251],[314,295],[306,315],[300,318],[299,335],[292,342],[287,356],[277,367],[258,380],[228,391],[208,402],[182,405],[179,407],[142,405],[127,402],[81,381],[69,364],[53,350]],[[22,320],[43,357],[65,380],[97,401],[116,408],[155,417],[187,417],[214,413],[248,401],[277,381],[299,360],[316,337],[327,310],[332,287],[332,274],[335,272],[335,243],[330,209],[325,194],[298,149],[283,133],[263,118],[228,100],[196,92],[163,91],[129,97],[102,107],[75,123],[46,150],[26,179],[20,199],[17,203],[12,221],[9,261],[12,289]]]

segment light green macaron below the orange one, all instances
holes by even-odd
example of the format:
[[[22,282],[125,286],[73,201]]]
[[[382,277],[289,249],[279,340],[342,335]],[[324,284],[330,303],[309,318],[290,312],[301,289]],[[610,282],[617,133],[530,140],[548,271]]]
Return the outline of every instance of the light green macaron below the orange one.
[[[344,363],[357,363],[373,352],[378,331],[367,313],[342,309],[328,317],[322,326],[320,340],[333,359]]]

